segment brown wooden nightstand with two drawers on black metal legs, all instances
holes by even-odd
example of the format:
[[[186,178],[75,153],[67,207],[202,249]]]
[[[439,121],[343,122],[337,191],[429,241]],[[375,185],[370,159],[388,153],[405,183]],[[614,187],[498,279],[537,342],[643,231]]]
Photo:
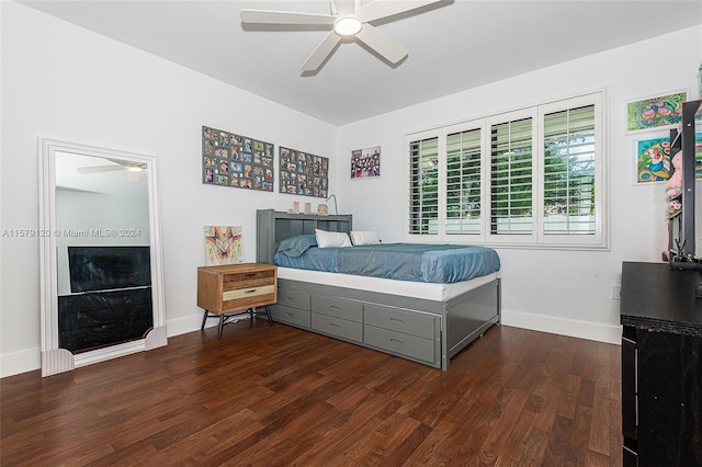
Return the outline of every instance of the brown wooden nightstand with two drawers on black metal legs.
[[[217,339],[229,318],[265,307],[268,321],[273,324],[269,305],[278,301],[278,266],[260,263],[239,263],[197,267],[197,306],[204,308],[201,330],[207,318],[219,318]]]

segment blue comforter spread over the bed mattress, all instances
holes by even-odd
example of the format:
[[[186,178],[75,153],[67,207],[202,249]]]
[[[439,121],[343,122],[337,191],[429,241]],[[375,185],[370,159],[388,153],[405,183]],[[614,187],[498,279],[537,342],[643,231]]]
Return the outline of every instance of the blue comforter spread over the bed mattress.
[[[394,278],[453,283],[500,269],[495,250],[460,244],[381,243],[349,248],[317,248],[309,239],[281,243],[275,264],[283,267]]]

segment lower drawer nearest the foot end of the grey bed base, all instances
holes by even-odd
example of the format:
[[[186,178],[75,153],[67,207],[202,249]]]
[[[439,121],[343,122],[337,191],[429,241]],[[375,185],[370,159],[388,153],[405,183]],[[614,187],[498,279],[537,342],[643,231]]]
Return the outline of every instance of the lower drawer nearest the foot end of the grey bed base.
[[[432,366],[440,366],[439,345],[432,339],[418,338],[374,326],[364,326],[364,342],[397,355],[419,360]]]

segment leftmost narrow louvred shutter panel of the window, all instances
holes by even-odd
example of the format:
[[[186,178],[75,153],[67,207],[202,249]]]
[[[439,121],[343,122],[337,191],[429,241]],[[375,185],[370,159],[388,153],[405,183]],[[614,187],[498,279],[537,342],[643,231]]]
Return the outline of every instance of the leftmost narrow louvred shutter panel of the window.
[[[409,144],[409,219],[412,235],[439,232],[439,138]]]

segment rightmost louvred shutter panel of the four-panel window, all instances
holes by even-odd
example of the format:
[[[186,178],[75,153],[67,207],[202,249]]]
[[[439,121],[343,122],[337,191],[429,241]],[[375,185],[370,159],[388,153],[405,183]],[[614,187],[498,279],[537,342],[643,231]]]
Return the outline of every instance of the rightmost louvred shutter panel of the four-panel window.
[[[544,235],[595,235],[595,105],[544,115]]]

